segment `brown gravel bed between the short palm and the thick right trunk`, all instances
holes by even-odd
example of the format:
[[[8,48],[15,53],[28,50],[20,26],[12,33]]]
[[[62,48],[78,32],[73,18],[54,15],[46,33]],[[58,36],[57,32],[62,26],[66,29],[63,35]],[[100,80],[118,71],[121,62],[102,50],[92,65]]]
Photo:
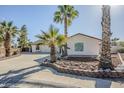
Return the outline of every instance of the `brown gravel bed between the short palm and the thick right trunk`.
[[[74,60],[73,60],[74,59]],[[76,60],[77,59],[77,60]],[[57,61],[56,64],[68,69],[96,70],[98,69],[99,61],[86,61],[87,58],[69,58]]]

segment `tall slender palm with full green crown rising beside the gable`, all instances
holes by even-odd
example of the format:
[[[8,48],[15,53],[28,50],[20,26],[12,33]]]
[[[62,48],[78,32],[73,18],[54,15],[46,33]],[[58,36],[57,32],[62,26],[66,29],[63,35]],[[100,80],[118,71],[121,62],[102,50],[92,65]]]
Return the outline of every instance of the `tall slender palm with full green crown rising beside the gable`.
[[[60,5],[54,14],[54,22],[64,23],[64,34],[68,37],[67,28],[71,25],[72,21],[78,16],[78,11],[71,5]],[[65,44],[64,56],[67,56],[67,43]]]

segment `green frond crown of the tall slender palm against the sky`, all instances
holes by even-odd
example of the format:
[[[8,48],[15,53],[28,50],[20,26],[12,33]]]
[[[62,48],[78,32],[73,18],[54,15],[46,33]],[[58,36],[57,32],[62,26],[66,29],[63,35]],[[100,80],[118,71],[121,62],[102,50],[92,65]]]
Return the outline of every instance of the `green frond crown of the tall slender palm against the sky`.
[[[54,22],[63,23],[67,18],[67,25],[70,26],[73,19],[79,16],[79,12],[72,5],[59,5],[58,10],[54,14]]]

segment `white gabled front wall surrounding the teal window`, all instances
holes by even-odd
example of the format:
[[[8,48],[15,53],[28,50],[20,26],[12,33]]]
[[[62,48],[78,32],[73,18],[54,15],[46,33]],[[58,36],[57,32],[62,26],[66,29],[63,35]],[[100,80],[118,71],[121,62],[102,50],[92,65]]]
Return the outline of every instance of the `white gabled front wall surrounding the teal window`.
[[[75,51],[75,43],[83,42],[84,50]],[[86,37],[83,35],[76,35],[68,39],[68,55],[99,55],[100,40]]]

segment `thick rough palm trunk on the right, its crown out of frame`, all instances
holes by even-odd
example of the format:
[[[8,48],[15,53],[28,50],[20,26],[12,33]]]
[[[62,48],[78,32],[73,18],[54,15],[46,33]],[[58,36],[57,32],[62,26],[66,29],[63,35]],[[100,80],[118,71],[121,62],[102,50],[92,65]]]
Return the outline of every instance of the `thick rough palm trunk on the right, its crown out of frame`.
[[[112,59],[111,59],[111,47],[110,47],[110,6],[103,5],[102,6],[102,50],[100,57],[100,65],[101,69],[113,69]]]

